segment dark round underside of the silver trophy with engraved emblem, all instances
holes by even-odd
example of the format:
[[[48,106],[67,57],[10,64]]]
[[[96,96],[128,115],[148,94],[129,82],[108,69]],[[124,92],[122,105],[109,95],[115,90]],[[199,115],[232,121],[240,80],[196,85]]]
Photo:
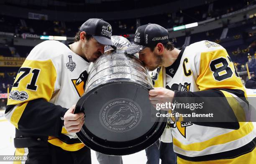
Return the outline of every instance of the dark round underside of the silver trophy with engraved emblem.
[[[166,118],[156,117],[156,113],[166,111],[151,106],[146,86],[114,82],[86,95],[76,107],[77,112],[85,113],[77,136],[90,149],[108,155],[133,154],[154,144],[164,132]]]

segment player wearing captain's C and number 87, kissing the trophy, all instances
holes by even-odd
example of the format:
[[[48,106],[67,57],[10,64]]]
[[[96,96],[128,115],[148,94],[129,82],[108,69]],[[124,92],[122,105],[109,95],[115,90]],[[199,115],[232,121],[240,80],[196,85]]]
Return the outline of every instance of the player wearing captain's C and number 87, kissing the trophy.
[[[256,161],[256,129],[252,122],[240,118],[241,114],[245,117],[248,109],[246,92],[222,46],[203,40],[178,50],[169,41],[168,31],[156,24],[138,27],[134,43],[125,52],[138,53],[149,70],[157,68],[153,76],[155,89],[149,91],[154,106],[163,97],[169,97],[173,103],[177,100],[186,103],[186,97],[215,97],[217,101],[209,106],[212,112],[222,112],[222,118],[236,120],[182,122],[171,117],[174,152],[179,164],[253,164]],[[241,107],[241,103],[246,105]]]

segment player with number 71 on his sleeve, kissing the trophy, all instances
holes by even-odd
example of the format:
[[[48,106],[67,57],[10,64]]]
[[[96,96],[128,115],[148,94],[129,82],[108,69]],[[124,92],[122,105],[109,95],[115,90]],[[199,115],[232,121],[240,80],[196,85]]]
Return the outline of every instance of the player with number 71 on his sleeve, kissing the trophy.
[[[24,164],[90,164],[90,149],[77,138],[84,114],[73,114],[84,93],[89,64],[112,45],[112,28],[89,19],[75,42],[49,40],[31,50],[15,78],[5,117],[15,126],[15,155]]]

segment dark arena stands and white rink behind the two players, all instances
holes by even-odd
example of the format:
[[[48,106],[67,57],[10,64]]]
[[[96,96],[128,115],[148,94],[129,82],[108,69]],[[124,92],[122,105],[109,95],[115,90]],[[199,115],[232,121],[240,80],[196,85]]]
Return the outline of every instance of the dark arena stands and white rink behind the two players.
[[[45,40],[73,42],[89,18],[104,19],[112,25],[112,35],[131,43],[136,28],[148,23],[165,27],[178,48],[201,40],[216,42],[228,51],[243,84],[255,76],[256,0],[1,0],[0,155],[14,154],[15,128],[4,112],[24,60]],[[256,96],[255,89],[246,92]],[[94,151],[92,163],[97,164]],[[123,163],[146,163],[145,151],[123,156]]]

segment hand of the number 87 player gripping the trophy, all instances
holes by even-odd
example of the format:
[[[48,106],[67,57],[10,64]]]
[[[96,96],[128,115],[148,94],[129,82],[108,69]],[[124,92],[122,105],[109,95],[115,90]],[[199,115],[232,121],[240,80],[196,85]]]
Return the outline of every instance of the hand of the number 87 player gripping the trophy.
[[[153,107],[156,108],[156,104],[172,103],[174,97],[174,91],[163,87],[156,87],[149,91],[149,100]],[[169,108],[161,108],[163,110],[170,110]]]

